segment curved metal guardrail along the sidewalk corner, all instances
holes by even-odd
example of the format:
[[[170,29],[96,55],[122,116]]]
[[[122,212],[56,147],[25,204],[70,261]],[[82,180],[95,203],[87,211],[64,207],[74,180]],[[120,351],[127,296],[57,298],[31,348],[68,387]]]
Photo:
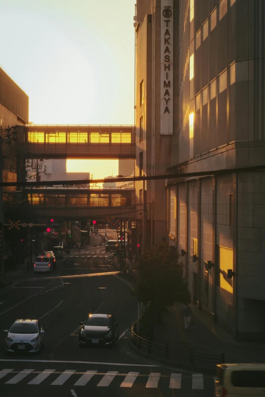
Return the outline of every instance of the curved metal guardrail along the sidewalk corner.
[[[154,356],[156,358],[162,358],[170,360],[178,365],[188,365],[188,366],[198,366],[199,363],[209,363],[223,364],[224,363],[224,353],[221,354],[211,354],[194,351],[191,347],[187,349],[179,349],[170,346],[168,343],[165,345],[152,342],[151,340],[144,339],[140,336],[142,317],[137,320],[131,327],[131,339],[132,342],[139,350]],[[212,366],[211,366],[212,367]]]

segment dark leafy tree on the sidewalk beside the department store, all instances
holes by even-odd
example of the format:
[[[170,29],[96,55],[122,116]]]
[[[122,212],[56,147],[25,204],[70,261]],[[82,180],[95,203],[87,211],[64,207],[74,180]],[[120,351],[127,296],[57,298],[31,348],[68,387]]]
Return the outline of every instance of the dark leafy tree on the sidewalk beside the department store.
[[[167,243],[151,247],[139,258],[136,295],[143,304],[151,302],[156,310],[172,306],[175,302],[190,302],[178,254],[171,252]]]

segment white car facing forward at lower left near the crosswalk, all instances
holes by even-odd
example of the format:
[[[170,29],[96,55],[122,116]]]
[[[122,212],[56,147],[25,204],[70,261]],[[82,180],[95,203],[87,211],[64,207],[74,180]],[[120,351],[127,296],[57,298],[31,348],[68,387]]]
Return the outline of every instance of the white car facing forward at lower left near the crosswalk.
[[[10,330],[4,331],[6,352],[38,353],[44,346],[44,333],[39,320],[16,320]]]

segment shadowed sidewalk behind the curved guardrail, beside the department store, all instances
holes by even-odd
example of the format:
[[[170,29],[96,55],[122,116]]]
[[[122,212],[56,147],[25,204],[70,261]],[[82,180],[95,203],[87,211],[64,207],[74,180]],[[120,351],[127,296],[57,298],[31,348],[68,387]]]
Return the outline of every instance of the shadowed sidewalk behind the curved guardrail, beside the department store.
[[[182,305],[175,304],[162,315],[161,323],[155,324],[153,341],[179,349],[193,348],[194,352],[224,353],[225,363],[264,363],[265,344],[237,342],[196,305],[191,309],[190,331],[184,328]]]

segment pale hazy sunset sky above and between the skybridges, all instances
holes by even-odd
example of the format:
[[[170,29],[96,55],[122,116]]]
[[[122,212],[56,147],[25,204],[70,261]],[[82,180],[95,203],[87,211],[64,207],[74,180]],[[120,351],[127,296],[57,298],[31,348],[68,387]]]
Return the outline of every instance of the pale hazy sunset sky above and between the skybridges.
[[[0,10],[0,64],[29,96],[30,122],[134,124],[135,0],[0,0]],[[103,177],[115,164],[82,167]]]

